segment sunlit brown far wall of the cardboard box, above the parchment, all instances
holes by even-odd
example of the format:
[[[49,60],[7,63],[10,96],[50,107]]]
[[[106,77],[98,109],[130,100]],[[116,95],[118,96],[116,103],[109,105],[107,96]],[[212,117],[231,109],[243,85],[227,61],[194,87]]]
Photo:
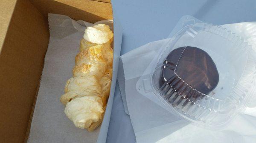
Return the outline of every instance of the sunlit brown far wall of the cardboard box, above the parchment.
[[[92,0],[30,0],[45,17],[48,13],[63,14],[74,20],[97,22],[112,20],[111,3]]]

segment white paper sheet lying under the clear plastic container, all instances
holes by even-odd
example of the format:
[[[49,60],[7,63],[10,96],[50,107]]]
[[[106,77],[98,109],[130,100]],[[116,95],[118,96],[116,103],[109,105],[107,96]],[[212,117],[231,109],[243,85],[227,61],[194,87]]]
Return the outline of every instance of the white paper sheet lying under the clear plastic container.
[[[246,39],[256,49],[256,22],[222,25]],[[256,95],[243,113],[226,128],[212,131],[168,112],[157,102],[158,98],[146,98],[136,90],[136,83],[154,54],[166,40],[151,42],[121,56],[118,82],[125,110],[130,114],[137,143],[252,143],[256,141]],[[136,64],[134,64],[136,63]],[[123,67],[123,69],[122,69]],[[122,76],[123,70],[123,76]]]

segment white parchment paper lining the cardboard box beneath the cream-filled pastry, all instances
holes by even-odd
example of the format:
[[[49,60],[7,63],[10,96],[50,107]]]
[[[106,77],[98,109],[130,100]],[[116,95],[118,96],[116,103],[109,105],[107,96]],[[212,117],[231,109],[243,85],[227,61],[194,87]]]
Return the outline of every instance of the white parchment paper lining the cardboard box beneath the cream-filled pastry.
[[[93,132],[76,128],[59,101],[66,81],[72,77],[84,30],[92,24],[59,14],[49,14],[48,20],[49,45],[28,143],[96,143],[100,126]]]

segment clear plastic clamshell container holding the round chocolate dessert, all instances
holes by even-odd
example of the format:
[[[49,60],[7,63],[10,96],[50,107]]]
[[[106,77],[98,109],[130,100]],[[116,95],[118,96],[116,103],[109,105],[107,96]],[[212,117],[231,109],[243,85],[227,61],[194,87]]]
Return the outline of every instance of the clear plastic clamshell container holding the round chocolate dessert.
[[[255,90],[256,53],[231,31],[193,23],[163,44],[136,87],[189,121],[224,126]]]

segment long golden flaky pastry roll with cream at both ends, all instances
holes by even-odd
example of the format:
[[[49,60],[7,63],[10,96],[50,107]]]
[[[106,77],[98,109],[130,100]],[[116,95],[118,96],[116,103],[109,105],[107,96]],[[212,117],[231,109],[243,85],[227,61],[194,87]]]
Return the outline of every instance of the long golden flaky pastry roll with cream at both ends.
[[[60,101],[76,127],[92,132],[103,120],[110,94],[113,66],[113,32],[108,25],[88,27],[80,42],[73,77]]]

